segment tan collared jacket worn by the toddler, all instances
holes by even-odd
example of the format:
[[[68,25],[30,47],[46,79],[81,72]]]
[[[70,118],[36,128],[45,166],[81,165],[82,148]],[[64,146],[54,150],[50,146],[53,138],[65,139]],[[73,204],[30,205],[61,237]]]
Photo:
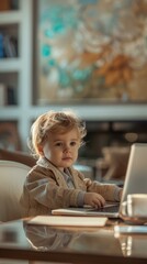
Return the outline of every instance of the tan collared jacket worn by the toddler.
[[[25,216],[50,215],[53,209],[78,207],[78,195],[81,191],[95,191],[105,200],[114,201],[120,188],[116,185],[92,182],[87,188],[84,176],[74,167],[69,168],[75,188],[69,188],[63,174],[46,158],[41,158],[24,183],[21,205]]]

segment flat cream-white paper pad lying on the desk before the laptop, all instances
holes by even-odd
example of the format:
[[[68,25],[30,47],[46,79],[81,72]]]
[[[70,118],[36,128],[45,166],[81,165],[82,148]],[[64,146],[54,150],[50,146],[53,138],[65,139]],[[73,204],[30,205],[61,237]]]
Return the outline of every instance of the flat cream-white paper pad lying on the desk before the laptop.
[[[64,217],[64,216],[37,216],[29,223],[58,226],[58,227],[104,227],[108,218],[103,217]]]

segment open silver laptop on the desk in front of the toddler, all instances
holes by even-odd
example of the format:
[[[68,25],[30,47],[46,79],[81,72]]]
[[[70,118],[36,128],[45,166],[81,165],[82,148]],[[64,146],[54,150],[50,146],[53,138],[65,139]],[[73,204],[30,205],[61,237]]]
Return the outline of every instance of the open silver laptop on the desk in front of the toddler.
[[[106,204],[103,208],[94,209],[91,207],[54,209],[53,215],[65,216],[101,216],[108,218],[118,218],[121,205],[127,199],[128,194],[147,194],[147,144],[134,143],[126,169],[121,202]]]

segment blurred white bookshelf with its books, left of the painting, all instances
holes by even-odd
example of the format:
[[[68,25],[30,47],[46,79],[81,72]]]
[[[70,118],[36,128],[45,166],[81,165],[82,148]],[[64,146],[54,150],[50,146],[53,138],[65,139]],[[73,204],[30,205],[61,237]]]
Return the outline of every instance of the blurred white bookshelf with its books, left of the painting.
[[[16,125],[22,148],[25,148],[31,107],[32,70],[32,1],[3,0],[0,4],[0,35],[7,38],[0,57],[0,125]],[[15,46],[9,41],[15,40]],[[5,51],[10,50],[10,51]]]

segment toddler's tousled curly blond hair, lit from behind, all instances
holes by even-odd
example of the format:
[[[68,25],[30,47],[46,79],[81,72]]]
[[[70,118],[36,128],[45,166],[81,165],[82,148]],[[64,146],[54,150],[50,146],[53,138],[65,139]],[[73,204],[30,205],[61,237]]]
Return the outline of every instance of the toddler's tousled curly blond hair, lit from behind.
[[[39,157],[39,146],[44,144],[48,132],[66,133],[72,129],[79,132],[80,143],[87,134],[86,123],[78,118],[71,110],[48,111],[39,116],[31,128],[29,147],[35,157]]]

